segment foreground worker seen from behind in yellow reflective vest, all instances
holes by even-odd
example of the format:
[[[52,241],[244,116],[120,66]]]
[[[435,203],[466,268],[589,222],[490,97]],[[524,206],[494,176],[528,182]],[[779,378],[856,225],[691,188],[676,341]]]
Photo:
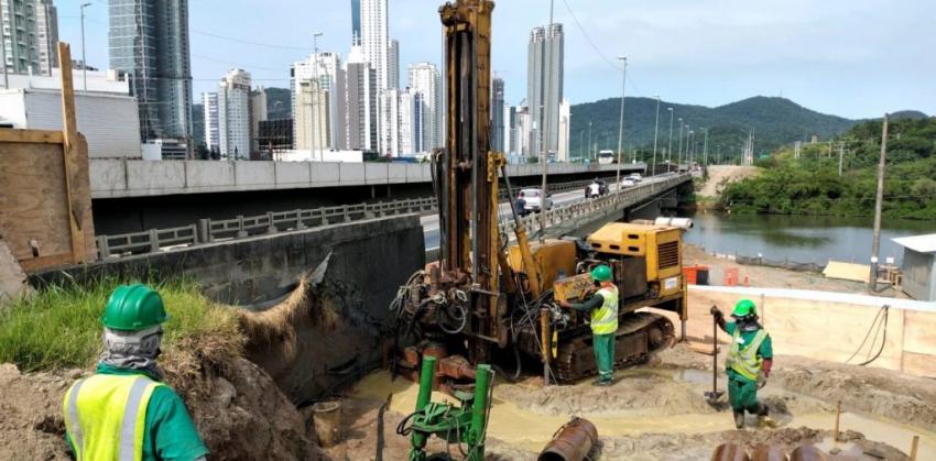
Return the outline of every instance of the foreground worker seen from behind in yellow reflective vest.
[[[122,285],[105,307],[104,353],[62,404],[66,439],[81,460],[204,460],[208,449],[182,399],[156,366],[162,323],[159,293]]]

